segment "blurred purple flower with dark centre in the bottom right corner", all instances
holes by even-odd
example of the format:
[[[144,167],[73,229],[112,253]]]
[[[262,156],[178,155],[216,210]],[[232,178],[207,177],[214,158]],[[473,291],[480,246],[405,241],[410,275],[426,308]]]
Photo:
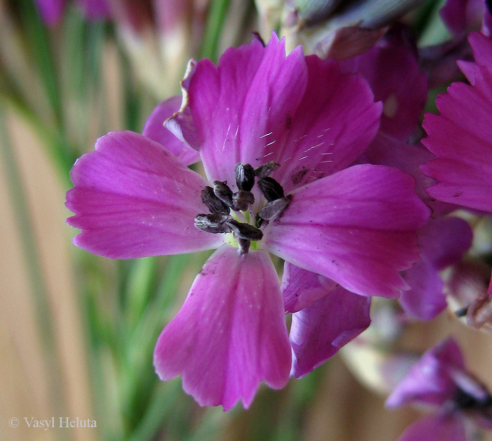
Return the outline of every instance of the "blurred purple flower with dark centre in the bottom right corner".
[[[399,441],[474,439],[466,433],[465,417],[492,429],[492,397],[466,371],[460,347],[453,339],[429,349],[388,397],[386,405],[416,402],[439,406],[440,412],[410,425]]]

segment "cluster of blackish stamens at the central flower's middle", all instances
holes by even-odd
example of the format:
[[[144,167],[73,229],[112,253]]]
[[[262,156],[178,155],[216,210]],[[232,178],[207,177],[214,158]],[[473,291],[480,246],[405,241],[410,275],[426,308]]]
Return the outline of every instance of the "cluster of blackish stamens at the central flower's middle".
[[[197,215],[195,226],[207,233],[230,233],[238,241],[239,252],[248,252],[251,242],[256,245],[256,241],[262,239],[260,228],[280,216],[292,200],[292,196],[285,196],[282,186],[269,176],[278,166],[274,161],[256,168],[238,162],[234,169],[238,191],[233,193],[227,182],[222,181],[214,181],[213,188],[205,187],[201,193],[202,202],[210,213]],[[255,215],[251,189],[256,179],[266,202],[261,204],[261,210]]]

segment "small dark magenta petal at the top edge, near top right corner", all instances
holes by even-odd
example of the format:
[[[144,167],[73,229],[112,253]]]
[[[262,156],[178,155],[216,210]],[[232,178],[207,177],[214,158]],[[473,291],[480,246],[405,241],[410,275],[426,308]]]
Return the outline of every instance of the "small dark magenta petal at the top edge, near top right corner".
[[[485,12],[484,0],[446,0],[439,15],[453,33],[480,29]]]

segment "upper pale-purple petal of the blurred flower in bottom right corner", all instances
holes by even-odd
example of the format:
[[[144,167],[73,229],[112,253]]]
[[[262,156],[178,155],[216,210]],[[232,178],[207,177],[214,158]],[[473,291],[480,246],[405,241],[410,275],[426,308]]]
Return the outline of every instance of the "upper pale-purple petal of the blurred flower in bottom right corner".
[[[463,369],[460,347],[449,338],[429,349],[412,366],[386,400],[386,406],[398,407],[411,402],[442,405],[454,398],[458,390],[451,371]]]

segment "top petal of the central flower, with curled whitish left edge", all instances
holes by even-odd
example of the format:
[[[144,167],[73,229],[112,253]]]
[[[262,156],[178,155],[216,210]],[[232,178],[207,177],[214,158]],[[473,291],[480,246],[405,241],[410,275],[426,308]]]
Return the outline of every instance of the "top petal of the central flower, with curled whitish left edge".
[[[210,180],[231,185],[237,162],[255,167],[282,147],[306,83],[301,47],[285,56],[275,34],[266,47],[253,39],[227,49],[218,67],[196,63],[184,83],[187,106],[166,124],[200,151]]]

